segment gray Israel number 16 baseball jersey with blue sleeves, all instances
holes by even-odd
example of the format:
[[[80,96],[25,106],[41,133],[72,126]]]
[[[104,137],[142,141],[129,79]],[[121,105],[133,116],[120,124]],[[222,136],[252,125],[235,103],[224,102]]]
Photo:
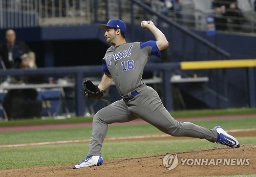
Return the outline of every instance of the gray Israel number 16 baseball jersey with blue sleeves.
[[[112,76],[119,94],[123,96],[144,83],[143,69],[151,55],[160,56],[156,41],[111,46],[103,58],[102,70]]]

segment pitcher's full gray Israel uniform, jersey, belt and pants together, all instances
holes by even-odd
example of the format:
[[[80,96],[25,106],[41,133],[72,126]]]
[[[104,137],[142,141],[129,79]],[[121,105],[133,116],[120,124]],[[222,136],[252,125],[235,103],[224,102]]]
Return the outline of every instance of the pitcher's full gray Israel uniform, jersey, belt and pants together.
[[[160,56],[156,41],[124,43],[117,47],[112,46],[106,51],[102,71],[111,75],[120,96],[125,97],[100,109],[94,115],[92,140],[87,156],[101,155],[108,124],[138,118],[168,135],[217,141],[216,129],[206,129],[193,123],[175,120],[162,104],[157,92],[143,82],[143,68],[151,55]]]

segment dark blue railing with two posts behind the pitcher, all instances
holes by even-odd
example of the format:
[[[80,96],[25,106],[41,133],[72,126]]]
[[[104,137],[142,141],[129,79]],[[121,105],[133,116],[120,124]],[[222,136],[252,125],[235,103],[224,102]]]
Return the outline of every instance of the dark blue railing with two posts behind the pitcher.
[[[160,71],[162,72],[163,84],[163,103],[168,110],[172,110],[172,85],[170,84],[170,72],[174,69],[179,69],[180,63],[155,63],[148,64],[145,71]],[[75,93],[75,112],[76,116],[84,116],[84,98],[81,96],[82,84],[84,75],[101,73],[100,65],[91,65],[83,67],[58,67],[58,68],[37,68],[31,70],[7,69],[0,70],[0,77],[3,76],[25,76],[25,75],[73,75],[74,76],[74,93]]]

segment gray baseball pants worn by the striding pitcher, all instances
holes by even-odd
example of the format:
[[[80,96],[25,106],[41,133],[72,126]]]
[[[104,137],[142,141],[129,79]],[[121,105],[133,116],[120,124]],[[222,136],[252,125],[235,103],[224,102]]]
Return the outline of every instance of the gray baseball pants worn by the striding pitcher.
[[[87,156],[101,155],[108,124],[142,119],[165,134],[174,137],[193,137],[216,142],[216,129],[207,129],[190,122],[175,120],[166,110],[158,93],[145,84],[136,89],[139,94],[130,101],[118,100],[100,109],[93,117],[92,139]]]

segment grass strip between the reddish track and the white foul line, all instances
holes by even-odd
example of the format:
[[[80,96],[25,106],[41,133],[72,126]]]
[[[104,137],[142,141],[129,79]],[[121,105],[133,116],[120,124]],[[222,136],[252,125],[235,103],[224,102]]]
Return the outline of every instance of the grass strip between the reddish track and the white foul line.
[[[221,125],[225,129],[256,128],[255,118],[217,119],[191,121],[197,125],[213,128]],[[0,134],[0,144],[31,143],[62,140],[90,139],[92,127],[57,128],[23,131],[3,131]],[[139,135],[158,135],[160,130],[150,124],[110,125],[107,137],[125,137]]]

